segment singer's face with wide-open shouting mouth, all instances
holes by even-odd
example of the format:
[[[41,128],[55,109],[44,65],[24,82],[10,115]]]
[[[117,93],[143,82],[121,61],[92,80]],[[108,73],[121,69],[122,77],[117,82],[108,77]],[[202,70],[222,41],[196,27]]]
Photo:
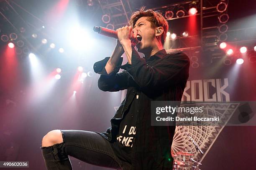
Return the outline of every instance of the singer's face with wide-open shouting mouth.
[[[141,36],[141,41],[136,45],[138,51],[146,52],[147,50],[151,50],[153,40],[155,39],[155,29],[151,27],[151,23],[147,20],[147,17],[139,18],[133,30],[137,30],[138,35]],[[138,39],[140,38],[138,37]]]

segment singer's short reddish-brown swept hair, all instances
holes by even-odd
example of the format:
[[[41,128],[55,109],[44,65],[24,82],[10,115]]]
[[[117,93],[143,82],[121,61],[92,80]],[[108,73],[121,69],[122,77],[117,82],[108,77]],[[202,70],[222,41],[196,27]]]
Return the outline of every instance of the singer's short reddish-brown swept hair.
[[[166,33],[168,31],[168,22],[164,19],[163,15],[159,11],[145,10],[146,7],[141,7],[139,11],[134,12],[131,15],[129,25],[134,28],[136,22],[141,17],[147,17],[153,28],[163,27],[164,32],[160,35],[161,43],[164,45]]]

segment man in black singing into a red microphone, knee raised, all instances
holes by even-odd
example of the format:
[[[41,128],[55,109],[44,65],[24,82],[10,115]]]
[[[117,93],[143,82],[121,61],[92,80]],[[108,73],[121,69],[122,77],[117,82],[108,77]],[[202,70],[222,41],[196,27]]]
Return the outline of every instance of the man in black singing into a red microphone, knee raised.
[[[166,53],[163,44],[167,31],[164,17],[145,7],[131,15],[129,26],[117,29],[117,45],[111,57],[93,67],[100,74],[100,90],[127,89],[127,95],[105,133],[47,133],[41,147],[47,170],[72,170],[68,155],[118,170],[172,169],[175,126],[151,126],[151,101],[181,101],[189,76],[189,58],[182,52]],[[128,60],[125,65],[123,53]]]

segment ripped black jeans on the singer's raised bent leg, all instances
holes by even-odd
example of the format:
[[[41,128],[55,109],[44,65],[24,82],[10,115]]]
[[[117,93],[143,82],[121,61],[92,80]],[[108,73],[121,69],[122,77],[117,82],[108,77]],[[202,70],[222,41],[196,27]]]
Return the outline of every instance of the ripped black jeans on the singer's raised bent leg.
[[[123,161],[101,135],[84,130],[61,130],[63,143],[41,147],[47,170],[72,170],[68,155],[106,168],[121,170]]]

